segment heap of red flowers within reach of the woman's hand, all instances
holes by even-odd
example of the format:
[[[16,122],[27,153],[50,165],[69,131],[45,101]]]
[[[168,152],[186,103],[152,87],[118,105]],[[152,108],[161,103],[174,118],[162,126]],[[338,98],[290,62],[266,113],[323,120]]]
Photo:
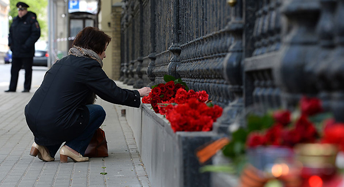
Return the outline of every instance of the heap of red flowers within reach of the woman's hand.
[[[157,84],[142,103],[151,104],[156,113],[166,116],[176,131],[210,131],[222,114],[222,108],[209,101],[204,90],[189,90],[188,86],[172,76],[165,75],[165,84]]]

